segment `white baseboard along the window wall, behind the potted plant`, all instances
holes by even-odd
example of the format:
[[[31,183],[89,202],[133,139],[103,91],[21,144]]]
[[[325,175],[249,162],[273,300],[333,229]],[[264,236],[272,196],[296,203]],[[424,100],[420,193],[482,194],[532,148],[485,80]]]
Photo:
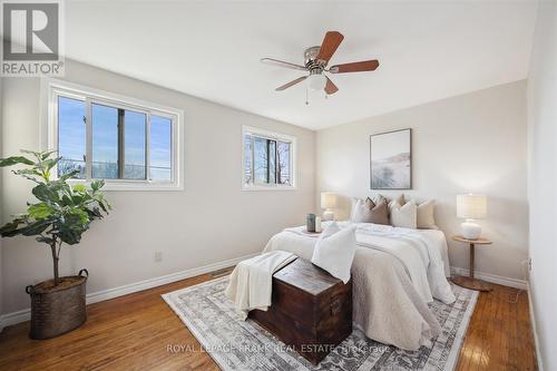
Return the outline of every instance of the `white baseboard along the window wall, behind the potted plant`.
[[[204,265],[204,266],[199,266],[199,267],[195,267],[195,269],[189,269],[189,270],[163,275],[159,277],[148,279],[148,280],[130,283],[127,285],[118,286],[118,287],[113,287],[113,289],[92,292],[90,294],[87,294],[87,304],[98,303],[98,302],[101,302],[105,300],[115,299],[118,296],[124,296],[124,295],[131,294],[135,292],[153,289],[156,286],[162,286],[162,285],[165,285],[167,283],[173,283],[176,281],[195,277],[196,275],[218,271],[218,270],[222,270],[222,269],[225,269],[228,266],[236,265],[237,263],[240,263],[246,258],[253,257],[255,255],[258,255],[258,254],[260,253],[247,254],[244,256],[240,256],[240,257],[235,257],[235,258],[231,258],[231,260],[226,260],[226,261],[222,261],[222,262],[217,262],[217,263],[213,263],[213,264],[208,264],[208,265]],[[29,307],[17,311],[17,312],[2,314],[2,315],[0,315],[0,331],[2,331],[3,328],[6,328],[6,326],[21,323],[21,322],[26,322],[26,321],[29,321],[30,319],[31,319],[31,310]]]

